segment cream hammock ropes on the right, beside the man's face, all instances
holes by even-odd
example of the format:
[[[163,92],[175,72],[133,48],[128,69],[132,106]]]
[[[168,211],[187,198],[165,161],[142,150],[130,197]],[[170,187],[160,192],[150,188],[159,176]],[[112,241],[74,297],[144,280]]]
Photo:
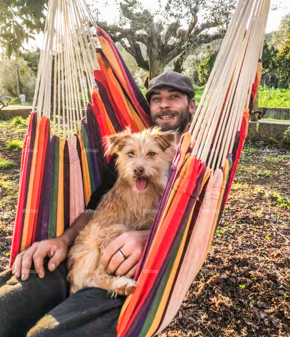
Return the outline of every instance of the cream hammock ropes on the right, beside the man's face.
[[[260,58],[269,0],[240,0],[193,118],[192,155],[219,167],[232,151],[248,107]]]

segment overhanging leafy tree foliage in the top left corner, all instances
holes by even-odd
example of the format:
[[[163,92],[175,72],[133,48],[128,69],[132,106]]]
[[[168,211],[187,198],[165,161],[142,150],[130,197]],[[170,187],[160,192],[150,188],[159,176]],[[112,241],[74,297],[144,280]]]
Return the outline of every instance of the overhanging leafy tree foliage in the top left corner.
[[[19,55],[22,43],[44,28],[48,0],[5,0],[0,11],[0,45],[8,58]]]

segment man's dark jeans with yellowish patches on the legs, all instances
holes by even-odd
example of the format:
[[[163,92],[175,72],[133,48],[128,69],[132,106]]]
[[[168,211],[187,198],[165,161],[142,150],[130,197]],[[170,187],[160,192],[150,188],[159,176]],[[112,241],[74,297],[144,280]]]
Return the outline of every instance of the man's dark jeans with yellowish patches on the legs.
[[[31,273],[20,282],[11,270],[0,274],[0,337],[115,337],[125,296],[85,288],[69,297],[66,261],[45,277]]]

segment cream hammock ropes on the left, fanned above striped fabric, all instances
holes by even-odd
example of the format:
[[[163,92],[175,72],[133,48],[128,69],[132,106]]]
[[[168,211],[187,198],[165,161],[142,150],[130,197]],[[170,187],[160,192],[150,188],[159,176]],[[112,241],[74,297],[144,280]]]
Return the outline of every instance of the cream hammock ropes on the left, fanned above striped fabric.
[[[96,27],[84,0],[49,0],[33,111],[51,118],[52,133],[64,138],[78,133],[95,86]]]

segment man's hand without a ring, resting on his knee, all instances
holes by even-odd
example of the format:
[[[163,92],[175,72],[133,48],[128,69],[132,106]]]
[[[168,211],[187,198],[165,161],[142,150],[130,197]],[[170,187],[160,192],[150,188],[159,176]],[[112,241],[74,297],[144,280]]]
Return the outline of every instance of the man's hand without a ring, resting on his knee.
[[[21,281],[27,280],[33,261],[38,276],[42,278],[44,276],[43,258],[48,254],[50,257],[48,269],[53,271],[65,260],[67,247],[68,241],[63,236],[34,242],[31,247],[16,256],[12,265],[12,274],[17,278],[21,276]]]

